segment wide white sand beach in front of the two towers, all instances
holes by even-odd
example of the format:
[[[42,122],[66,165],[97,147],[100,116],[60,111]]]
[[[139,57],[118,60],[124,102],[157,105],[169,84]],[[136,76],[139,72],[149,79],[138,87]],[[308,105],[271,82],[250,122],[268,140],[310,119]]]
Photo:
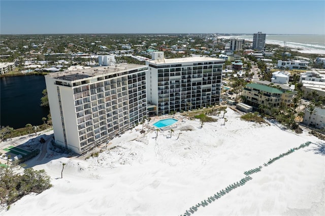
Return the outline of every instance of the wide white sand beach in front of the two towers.
[[[28,166],[45,169],[53,187],[12,204],[1,215],[180,215],[246,177],[238,187],[194,215],[324,215],[324,143],[304,131],[240,120],[231,109],[223,119],[179,122],[171,132],[141,125],[114,138],[99,157],[66,158],[47,150]],[[177,139],[179,135],[179,138]],[[170,137],[170,138],[169,138]],[[270,159],[311,141],[306,147],[264,166]],[[48,145],[49,147],[50,145]],[[318,153],[318,154],[317,154]],[[57,159],[54,159],[57,158]],[[64,167],[61,176],[62,163]]]

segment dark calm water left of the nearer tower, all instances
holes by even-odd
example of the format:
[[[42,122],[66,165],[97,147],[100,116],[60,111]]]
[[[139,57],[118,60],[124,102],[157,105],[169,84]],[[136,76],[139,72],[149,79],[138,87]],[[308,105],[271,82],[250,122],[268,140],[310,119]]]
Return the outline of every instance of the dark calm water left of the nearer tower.
[[[4,77],[0,83],[0,125],[14,129],[41,125],[49,109],[40,106],[45,78],[40,75]]]

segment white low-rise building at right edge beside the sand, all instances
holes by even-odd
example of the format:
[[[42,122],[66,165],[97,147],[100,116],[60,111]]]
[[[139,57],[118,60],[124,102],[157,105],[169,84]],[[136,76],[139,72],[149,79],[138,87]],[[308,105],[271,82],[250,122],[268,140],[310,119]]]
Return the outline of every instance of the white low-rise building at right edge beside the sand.
[[[315,112],[310,114],[308,109],[305,110],[303,123],[321,130],[325,129],[325,109],[315,107]]]

